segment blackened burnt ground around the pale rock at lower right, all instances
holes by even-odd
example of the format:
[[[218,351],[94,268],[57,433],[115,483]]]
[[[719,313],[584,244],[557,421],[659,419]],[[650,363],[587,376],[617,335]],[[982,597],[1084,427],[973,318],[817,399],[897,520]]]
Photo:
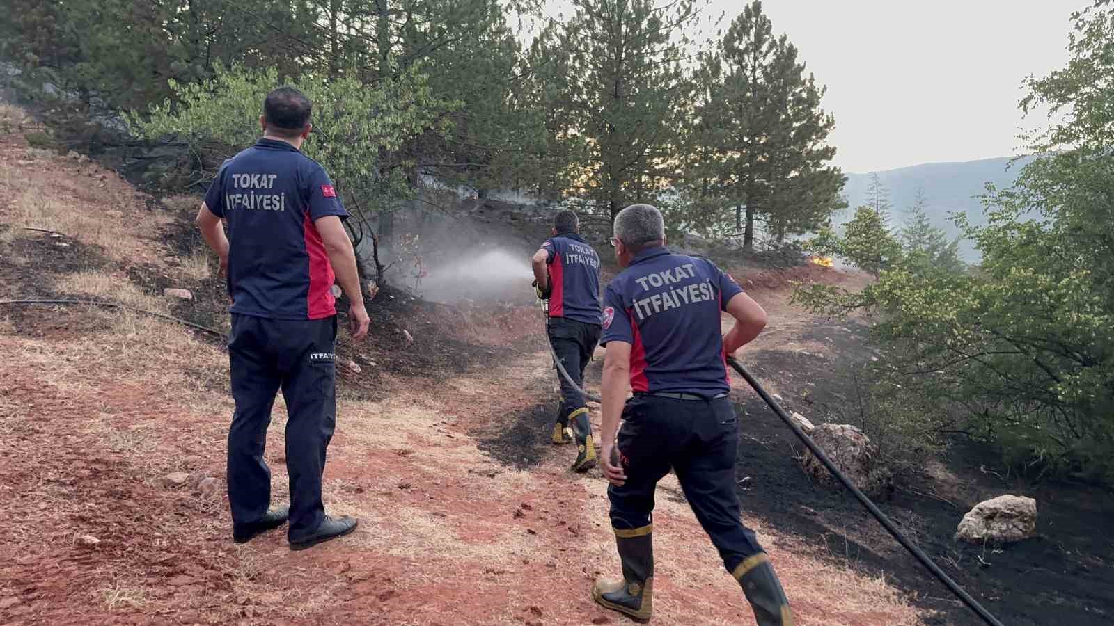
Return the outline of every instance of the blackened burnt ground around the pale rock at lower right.
[[[782,389],[800,389],[801,381],[814,383],[809,388],[813,404],[797,393],[785,393],[784,408],[805,414],[847,397],[847,380],[839,366],[869,355],[863,351],[861,326],[825,325],[811,332],[815,333],[811,339],[827,340],[833,346],[839,363],[780,350],[746,353],[745,363],[759,380],[779,380]],[[742,417],[737,476],[750,477],[740,489],[744,516],[759,517],[782,534],[823,548],[836,563],[885,576],[919,606],[939,612],[930,624],[983,623],[850,493],[815,485],[801,470],[793,457],[803,446],[761,399],[746,395],[736,407]],[[967,440],[954,441],[939,461],[960,482],[958,496],[951,493],[956,491],[951,486],[951,503],[928,496],[945,491],[945,486],[936,485],[927,473],[903,477],[877,503],[949,576],[1004,624],[1114,623],[1114,495],[1086,485],[1034,485],[985,473],[980,468],[1000,470],[1000,457]],[[998,473],[1008,476],[1005,470]],[[965,512],[1005,493],[1036,498],[1038,537],[986,548],[952,539]],[[789,593],[792,596],[792,589]]]

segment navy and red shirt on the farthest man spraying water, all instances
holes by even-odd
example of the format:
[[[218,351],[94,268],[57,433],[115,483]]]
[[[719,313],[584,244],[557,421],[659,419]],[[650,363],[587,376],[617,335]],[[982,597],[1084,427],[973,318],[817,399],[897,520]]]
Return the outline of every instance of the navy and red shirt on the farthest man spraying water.
[[[599,255],[580,235],[560,233],[541,244],[549,256],[549,316],[599,324]]]

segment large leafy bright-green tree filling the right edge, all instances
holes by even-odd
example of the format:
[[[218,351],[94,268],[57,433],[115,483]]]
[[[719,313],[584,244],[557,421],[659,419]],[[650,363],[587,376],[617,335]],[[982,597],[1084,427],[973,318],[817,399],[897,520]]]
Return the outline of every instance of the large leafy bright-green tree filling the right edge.
[[[1063,120],[1030,137],[1038,158],[988,188],[987,224],[965,226],[969,273],[882,270],[860,293],[808,286],[821,312],[869,307],[910,397],[965,408],[969,429],[1043,470],[1114,480],[1114,10],[1076,16],[1068,67],[1028,81],[1027,110]],[[1055,118],[1053,118],[1055,119]],[[1036,215],[1038,218],[1032,218]]]

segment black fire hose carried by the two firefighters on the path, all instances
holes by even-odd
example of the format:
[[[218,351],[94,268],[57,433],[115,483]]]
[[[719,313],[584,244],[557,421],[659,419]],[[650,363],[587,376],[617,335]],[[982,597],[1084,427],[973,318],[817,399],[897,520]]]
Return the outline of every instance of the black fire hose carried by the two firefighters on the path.
[[[541,311],[546,317],[546,324],[548,324],[549,301],[543,300],[540,302],[541,302]],[[553,341],[550,341],[548,332],[546,333],[546,345],[549,348],[549,354],[554,359],[554,364],[557,366],[557,371],[560,373],[565,382],[568,383],[570,387],[573,387],[573,389],[575,389],[577,392],[584,394],[584,397],[587,398],[588,400],[592,400],[594,402],[599,402],[600,401],[599,397],[588,393],[587,391],[582,389],[580,385],[576,384],[576,382],[573,380],[573,376],[568,374],[568,371],[565,369],[560,359],[557,356],[557,351],[554,350]],[[952,594],[956,595],[956,597],[962,600],[962,603],[967,605],[968,608],[974,610],[983,619],[983,622],[989,624],[990,626],[1003,626],[1001,622],[999,622],[997,617],[991,615],[990,612],[988,612],[983,605],[978,603],[978,600],[976,600],[970,596],[970,594],[965,591],[964,588],[960,587],[958,583],[952,580],[950,576],[945,574],[944,570],[940,569],[940,567],[936,565],[932,561],[932,559],[925,554],[924,550],[917,547],[916,544],[910,541],[900,530],[898,530],[897,526],[893,525],[890,518],[887,517],[887,515],[883,513],[881,509],[879,509],[878,506],[874,505],[874,502],[872,502],[870,498],[867,497],[866,493],[863,493],[858,487],[856,487],[838,467],[836,467],[836,463],[833,463],[832,460],[828,458],[828,454],[825,454],[824,451],[821,450],[820,447],[812,441],[812,438],[810,438],[808,434],[804,433],[803,430],[801,430],[801,427],[797,426],[797,422],[790,419],[790,417],[785,413],[785,410],[782,409],[781,405],[779,405],[778,402],[766,392],[766,390],[762,388],[762,384],[759,383],[758,379],[751,375],[751,373],[747,372],[745,368],[743,368],[742,363],[740,363],[734,356],[729,356],[727,364],[730,364],[732,369],[734,369],[736,372],[739,372],[741,376],[743,376],[743,380],[745,380],[746,383],[750,384],[755,392],[758,392],[758,394],[762,398],[762,400],[764,400],[765,403],[770,405],[770,409],[773,410],[773,412],[781,419],[781,421],[785,422],[785,426],[788,426],[789,429],[793,431],[793,434],[795,434],[797,438],[804,443],[804,446],[809,449],[809,451],[811,451],[817,457],[817,459],[819,459],[820,462],[825,468],[828,468],[828,471],[830,471],[832,476],[834,476],[843,485],[843,487],[846,487],[848,491],[850,491],[851,495],[854,496],[857,500],[859,500],[859,503],[861,503],[867,509],[867,511],[869,511],[870,515],[873,516],[874,519],[877,519],[878,522],[882,525],[882,528],[885,528],[887,532],[889,532],[890,536],[897,540],[898,544],[901,544],[901,547],[908,550],[909,554],[912,555],[922,566],[925,566],[925,568],[928,569],[929,573],[932,574],[932,576],[935,576],[940,583],[942,583],[944,586],[948,588],[948,590],[950,590]]]

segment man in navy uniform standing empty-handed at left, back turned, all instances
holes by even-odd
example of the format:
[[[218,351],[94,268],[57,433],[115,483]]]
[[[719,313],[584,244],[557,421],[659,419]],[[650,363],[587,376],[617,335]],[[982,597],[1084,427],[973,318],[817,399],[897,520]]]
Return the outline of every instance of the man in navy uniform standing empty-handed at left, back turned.
[[[356,520],[325,515],[325,450],[336,419],[336,307],[340,283],[353,339],[368,334],[352,243],[324,168],[303,155],[311,104],[293,88],[267,95],[263,138],[226,160],[197,225],[226,270],[233,299],[228,360],[236,411],[228,429],[228,503],[237,544],[287,521],[291,549],[346,535]],[[225,236],[222,221],[228,225]],[[290,507],[270,509],[263,460],[275,394],[286,400]]]

